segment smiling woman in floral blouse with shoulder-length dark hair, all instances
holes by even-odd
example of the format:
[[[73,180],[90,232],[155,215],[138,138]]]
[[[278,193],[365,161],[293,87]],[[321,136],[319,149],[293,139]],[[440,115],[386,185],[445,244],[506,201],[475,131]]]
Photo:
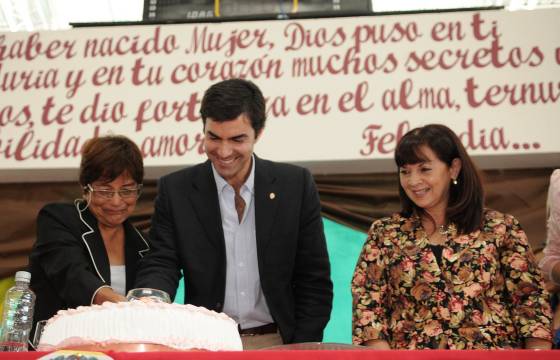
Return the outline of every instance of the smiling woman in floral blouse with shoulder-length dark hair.
[[[402,211],[373,222],[352,280],[353,342],[380,349],[550,348],[551,312],[519,222],[443,125],[395,151]]]

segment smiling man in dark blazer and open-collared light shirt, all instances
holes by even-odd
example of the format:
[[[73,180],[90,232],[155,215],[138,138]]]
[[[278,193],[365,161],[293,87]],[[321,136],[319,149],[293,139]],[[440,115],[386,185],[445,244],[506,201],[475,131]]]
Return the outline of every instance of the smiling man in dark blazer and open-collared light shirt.
[[[211,86],[200,113],[208,161],[160,179],[137,286],[173,297],[182,270],[185,302],[234,318],[245,348],[321,341],[332,282],[311,174],[253,154],[266,116],[252,82]]]

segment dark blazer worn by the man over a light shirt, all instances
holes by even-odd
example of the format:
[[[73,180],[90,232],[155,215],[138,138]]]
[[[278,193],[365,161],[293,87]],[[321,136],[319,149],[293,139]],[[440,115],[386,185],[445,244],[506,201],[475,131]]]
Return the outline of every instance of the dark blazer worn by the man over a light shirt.
[[[262,290],[285,343],[321,341],[332,282],[320,203],[311,174],[255,158],[255,223]],[[226,252],[210,161],[164,176],[140,262],[138,287],[175,296],[182,270],[185,302],[222,311]]]

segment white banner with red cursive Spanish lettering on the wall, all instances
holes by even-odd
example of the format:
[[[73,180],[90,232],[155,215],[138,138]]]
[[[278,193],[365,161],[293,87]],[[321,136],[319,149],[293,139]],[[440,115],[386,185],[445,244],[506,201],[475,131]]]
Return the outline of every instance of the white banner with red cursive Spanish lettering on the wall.
[[[267,98],[264,158],[371,172],[403,133],[437,122],[494,167],[560,165],[559,19],[484,11],[3,33],[0,181],[75,170],[83,143],[108,132],[135,140],[148,169],[198,163],[200,99],[230,77]]]

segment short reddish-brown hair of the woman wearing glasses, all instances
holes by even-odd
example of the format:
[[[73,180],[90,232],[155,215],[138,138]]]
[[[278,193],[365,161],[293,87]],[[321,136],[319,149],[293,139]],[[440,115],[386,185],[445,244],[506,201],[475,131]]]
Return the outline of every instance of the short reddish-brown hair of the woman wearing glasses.
[[[144,162],[138,146],[121,135],[106,135],[88,140],[82,148],[80,185],[94,181],[111,182],[128,173],[137,184],[144,179]]]

